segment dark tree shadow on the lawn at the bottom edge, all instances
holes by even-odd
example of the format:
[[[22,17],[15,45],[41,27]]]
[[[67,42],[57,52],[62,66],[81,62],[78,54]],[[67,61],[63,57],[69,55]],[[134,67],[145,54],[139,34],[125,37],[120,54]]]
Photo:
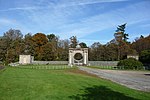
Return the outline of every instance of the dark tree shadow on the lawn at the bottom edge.
[[[73,100],[138,100],[113,91],[105,86],[93,86],[84,89],[84,94],[70,96]]]

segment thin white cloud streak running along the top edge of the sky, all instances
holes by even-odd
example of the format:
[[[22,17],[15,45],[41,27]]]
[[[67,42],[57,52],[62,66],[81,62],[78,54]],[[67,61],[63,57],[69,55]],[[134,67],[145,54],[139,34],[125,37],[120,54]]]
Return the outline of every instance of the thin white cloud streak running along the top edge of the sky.
[[[83,5],[91,5],[91,4],[97,4],[97,3],[104,3],[104,2],[122,2],[127,0],[61,0],[60,2],[54,4],[47,0],[38,0],[36,3],[32,1],[32,6],[24,6],[24,7],[13,7],[8,9],[1,9],[0,11],[15,11],[15,10],[40,10],[40,9],[48,9],[52,7],[70,7],[70,6],[83,6]],[[15,1],[14,1],[15,2]],[[16,1],[17,2],[17,1]],[[45,4],[46,5],[45,5]],[[34,6],[34,5],[39,6]],[[44,5],[43,5],[44,4]]]

